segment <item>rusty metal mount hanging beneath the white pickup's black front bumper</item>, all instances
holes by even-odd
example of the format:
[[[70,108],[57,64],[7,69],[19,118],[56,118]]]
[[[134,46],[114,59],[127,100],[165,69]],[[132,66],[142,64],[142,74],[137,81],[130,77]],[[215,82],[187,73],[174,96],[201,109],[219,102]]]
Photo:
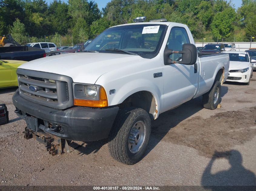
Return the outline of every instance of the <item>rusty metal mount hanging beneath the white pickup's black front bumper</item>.
[[[68,153],[70,152],[66,139],[59,138],[55,135],[50,135],[46,132],[34,132],[25,127],[24,137],[26,139],[34,138],[38,142],[44,144],[46,150],[49,151],[49,154],[52,154],[52,156],[62,154],[64,147]]]

